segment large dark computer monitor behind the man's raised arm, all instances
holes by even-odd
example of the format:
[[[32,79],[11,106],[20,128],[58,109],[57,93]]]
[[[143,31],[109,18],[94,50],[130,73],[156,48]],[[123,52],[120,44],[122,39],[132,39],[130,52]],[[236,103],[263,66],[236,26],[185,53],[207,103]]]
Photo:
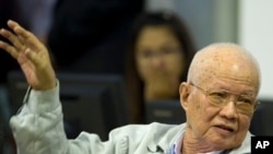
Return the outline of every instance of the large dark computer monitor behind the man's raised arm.
[[[87,131],[107,140],[111,129],[128,123],[121,75],[57,72],[57,78],[68,138]],[[10,72],[8,87],[12,112],[15,114],[28,87],[23,73]]]

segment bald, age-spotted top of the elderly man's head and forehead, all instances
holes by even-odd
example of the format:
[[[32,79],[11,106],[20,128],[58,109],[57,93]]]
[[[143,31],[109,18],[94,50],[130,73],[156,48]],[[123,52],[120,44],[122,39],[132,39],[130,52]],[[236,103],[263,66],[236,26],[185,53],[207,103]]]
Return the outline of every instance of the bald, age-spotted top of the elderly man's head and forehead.
[[[189,80],[206,81],[227,76],[260,84],[259,68],[252,57],[233,44],[216,44],[200,50],[189,71]]]

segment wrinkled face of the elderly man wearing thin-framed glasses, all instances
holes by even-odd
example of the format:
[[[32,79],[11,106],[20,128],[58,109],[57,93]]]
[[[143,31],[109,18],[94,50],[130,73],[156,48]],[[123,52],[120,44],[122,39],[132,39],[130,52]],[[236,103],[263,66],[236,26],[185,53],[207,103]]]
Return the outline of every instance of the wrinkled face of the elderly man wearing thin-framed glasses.
[[[224,58],[226,61],[215,56],[216,60],[211,58],[209,64],[201,60],[199,66],[211,67],[197,69],[198,78],[190,81],[193,84],[185,84],[189,93],[183,107],[189,134],[217,150],[236,147],[244,141],[259,88],[257,70],[228,56]]]

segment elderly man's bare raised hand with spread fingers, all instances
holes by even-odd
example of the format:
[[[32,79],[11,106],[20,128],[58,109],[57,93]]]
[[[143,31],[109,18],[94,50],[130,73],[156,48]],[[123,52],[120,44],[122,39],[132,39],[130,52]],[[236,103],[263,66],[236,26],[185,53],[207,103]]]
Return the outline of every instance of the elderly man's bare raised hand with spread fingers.
[[[0,48],[17,60],[27,83],[35,90],[56,86],[56,75],[45,45],[20,24],[9,20],[10,29],[0,29],[0,35],[10,43],[0,40]],[[3,66],[2,66],[3,67]]]

